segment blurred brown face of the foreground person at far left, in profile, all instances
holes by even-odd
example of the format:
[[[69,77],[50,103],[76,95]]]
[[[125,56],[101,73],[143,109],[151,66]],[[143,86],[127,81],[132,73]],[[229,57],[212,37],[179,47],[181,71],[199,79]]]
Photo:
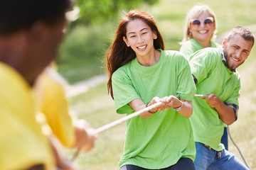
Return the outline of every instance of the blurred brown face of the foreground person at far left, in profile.
[[[65,19],[48,25],[39,23],[36,35],[28,47],[28,69],[31,79],[36,79],[43,69],[58,56],[58,47],[63,40]]]

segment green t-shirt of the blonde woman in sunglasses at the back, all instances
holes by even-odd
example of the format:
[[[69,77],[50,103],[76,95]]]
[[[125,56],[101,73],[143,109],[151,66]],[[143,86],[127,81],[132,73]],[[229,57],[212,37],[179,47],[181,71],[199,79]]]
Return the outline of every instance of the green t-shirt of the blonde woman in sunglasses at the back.
[[[221,45],[215,42],[210,42],[210,47],[220,48]],[[187,40],[183,45],[181,45],[181,49],[179,51],[185,55],[187,60],[189,60],[194,52],[203,48],[205,48],[203,45],[199,44],[194,38],[191,38],[190,40]]]

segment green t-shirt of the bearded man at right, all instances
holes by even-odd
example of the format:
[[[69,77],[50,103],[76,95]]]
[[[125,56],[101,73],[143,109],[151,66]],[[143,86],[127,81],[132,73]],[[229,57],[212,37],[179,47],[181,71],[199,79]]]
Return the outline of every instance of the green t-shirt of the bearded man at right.
[[[208,47],[195,52],[189,64],[192,74],[198,80],[196,94],[215,94],[221,101],[238,106],[240,74],[225,67],[218,48]],[[215,108],[210,107],[206,100],[193,98],[193,115],[190,120],[196,142],[206,144],[217,151],[224,149],[220,139],[225,124],[218,117]]]

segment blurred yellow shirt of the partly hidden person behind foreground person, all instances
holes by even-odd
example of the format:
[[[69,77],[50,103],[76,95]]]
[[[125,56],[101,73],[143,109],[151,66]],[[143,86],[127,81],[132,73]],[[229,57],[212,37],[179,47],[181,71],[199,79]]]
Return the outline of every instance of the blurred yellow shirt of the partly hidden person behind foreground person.
[[[63,85],[51,75],[52,72],[55,71],[48,68],[36,82],[35,91],[39,108],[46,115],[47,123],[58,140],[65,147],[73,147],[75,144],[74,118],[69,114],[69,103],[65,97]]]

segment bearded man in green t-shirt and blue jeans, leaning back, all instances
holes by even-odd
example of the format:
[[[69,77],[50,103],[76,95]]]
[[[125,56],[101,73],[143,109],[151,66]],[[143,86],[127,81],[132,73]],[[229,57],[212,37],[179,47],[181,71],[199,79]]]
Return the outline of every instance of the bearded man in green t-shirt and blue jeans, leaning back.
[[[196,142],[196,169],[247,169],[228,152],[220,138],[225,125],[237,119],[240,96],[240,74],[236,68],[247,57],[254,44],[254,35],[244,27],[236,27],[223,40],[223,49],[205,48],[190,58],[197,94],[193,99],[191,124]]]

